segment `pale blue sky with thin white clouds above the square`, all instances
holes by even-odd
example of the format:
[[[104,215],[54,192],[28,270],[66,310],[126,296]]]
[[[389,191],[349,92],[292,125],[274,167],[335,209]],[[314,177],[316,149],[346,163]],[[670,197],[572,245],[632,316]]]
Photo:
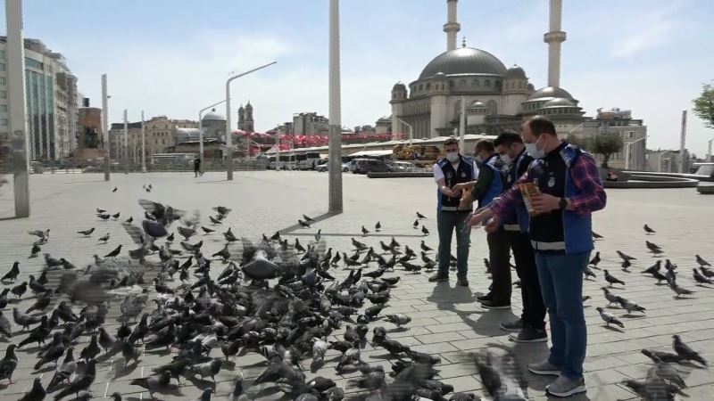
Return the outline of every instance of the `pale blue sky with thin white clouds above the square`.
[[[445,50],[445,0],[341,2],[345,126],[389,115],[389,91]],[[678,148],[681,111],[714,79],[714,2],[566,0],[561,86],[587,111],[620,107],[649,126],[650,148]],[[545,86],[547,0],[461,0],[461,37],[518,63]],[[2,10],[4,12],[4,9]],[[3,15],[4,18],[4,15]],[[231,71],[278,65],[238,80],[234,106],[250,100],[256,128],[299,111],[328,113],[327,0],[25,0],[26,37],[63,53],[79,89],[100,103],[109,74],[111,120],[196,119],[224,96]],[[703,155],[714,130],[690,112],[687,147]]]

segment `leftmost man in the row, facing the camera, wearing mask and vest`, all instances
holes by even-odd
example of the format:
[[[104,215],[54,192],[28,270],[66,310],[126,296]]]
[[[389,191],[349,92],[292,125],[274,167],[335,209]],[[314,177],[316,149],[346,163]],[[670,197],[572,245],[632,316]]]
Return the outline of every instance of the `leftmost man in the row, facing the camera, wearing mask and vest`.
[[[449,281],[449,259],[452,250],[452,237],[456,231],[456,283],[468,286],[466,274],[469,270],[469,229],[466,225],[471,209],[460,209],[461,190],[457,184],[469,183],[476,178],[473,160],[461,155],[459,143],[454,138],[444,141],[443,159],[434,164],[436,181],[436,229],[439,233],[439,266],[429,282]]]

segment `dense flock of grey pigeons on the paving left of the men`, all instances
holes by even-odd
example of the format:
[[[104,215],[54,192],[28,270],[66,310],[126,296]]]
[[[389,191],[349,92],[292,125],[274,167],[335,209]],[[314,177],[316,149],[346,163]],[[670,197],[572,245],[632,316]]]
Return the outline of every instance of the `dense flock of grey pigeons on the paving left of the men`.
[[[2,277],[6,287],[0,309],[34,297],[26,310],[12,308],[14,324],[0,311],[0,333],[12,341],[0,360],[0,381],[14,384],[19,353],[37,358],[36,378],[22,401],[118,401],[124,396],[106,394],[109,383],[104,395],[92,393],[95,382],[104,384],[96,380],[98,367],[108,363],[110,371],[122,376],[150,355],[159,356],[162,364],[147,372],[142,367],[142,377],[130,381],[141,397],[144,392],[152,398],[182,397],[185,381],[190,381],[202,391],[198,399],[208,401],[217,397],[216,376],[228,373],[235,374],[233,391],[220,399],[230,401],[261,399],[271,389],[300,401],[477,399],[439,380],[438,356],[389,338],[389,332],[411,323],[408,315],[388,313],[390,291],[400,282],[396,267],[415,273],[436,267],[425,241],[420,243],[423,263],[414,263],[417,252],[394,237],[389,243],[379,241],[380,250],[356,239],[353,250],[326,250],[320,231],[315,241],[305,244],[280,233],[253,242],[229,227],[219,231],[231,211],[226,207],[212,208],[215,213],[205,224],[197,211],[155,201],[138,203],[145,210],[141,223],[135,225],[132,217],[120,222],[136,247],[122,251],[118,245],[104,256],[95,255],[84,269],[45,253],[37,278],[29,274],[29,280],[21,282],[25,274],[20,262]],[[426,219],[417,216],[414,228]],[[120,213],[96,209],[96,217],[119,220]],[[313,221],[303,216],[300,222],[309,226]],[[380,228],[380,223],[375,225],[376,231]],[[78,241],[92,238],[95,231],[78,230]],[[424,225],[422,233],[428,235]],[[35,258],[51,241],[50,230],[29,234],[37,237],[30,251]],[[196,238],[201,240],[192,242]],[[108,233],[99,239],[109,240]],[[203,253],[204,241],[225,245],[209,255]],[[331,271],[338,268],[349,274],[336,279]],[[386,350],[391,362],[362,359],[368,343]],[[253,381],[244,380],[237,364],[237,356],[247,353],[264,358],[264,371]],[[490,354],[476,358],[494,399],[527,399],[525,385],[507,390],[515,381],[511,377],[518,376],[514,361],[513,355],[505,364]],[[337,374],[360,375],[341,388],[329,378],[306,374],[332,364]]]

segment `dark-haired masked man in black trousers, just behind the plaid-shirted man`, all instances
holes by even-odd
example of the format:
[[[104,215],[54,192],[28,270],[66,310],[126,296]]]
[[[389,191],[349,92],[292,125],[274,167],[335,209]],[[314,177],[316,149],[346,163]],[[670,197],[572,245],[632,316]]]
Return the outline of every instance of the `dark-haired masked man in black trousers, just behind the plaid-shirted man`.
[[[512,131],[503,132],[494,140],[496,151],[501,161],[508,169],[505,189],[511,189],[513,183],[523,176],[533,158],[523,145],[519,134]],[[513,251],[516,264],[516,274],[520,279],[520,298],[523,302],[522,312],[516,321],[501,323],[502,330],[514,331],[511,340],[515,342],[547,341],[545,332],[545,306],[538,282],[538,269],[535,267],[535,254],[528,238],[528,211],[520,202],[515,213],[510,213],[503,221],[503,230]],[[509,269],[509,282],[511,270]]]

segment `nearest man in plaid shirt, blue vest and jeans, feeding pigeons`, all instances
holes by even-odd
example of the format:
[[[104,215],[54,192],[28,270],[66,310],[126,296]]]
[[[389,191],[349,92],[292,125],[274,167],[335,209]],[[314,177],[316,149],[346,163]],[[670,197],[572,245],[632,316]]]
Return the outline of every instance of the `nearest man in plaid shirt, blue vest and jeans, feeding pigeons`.
[[[605,207],[606,196],[593,157],[561,141],[551,120],[528,119],[521,135],[536,160],[511,190],[475,213],[469,225],[487,221],[486,231],[494,231],[521,201],[530,205],[528,233],[552,347],[543,362],[528,364],[528,370],[558,376],[545,389],[552,396],[569,397],[585,392],[583,272],[594,249],[592,213]]]

